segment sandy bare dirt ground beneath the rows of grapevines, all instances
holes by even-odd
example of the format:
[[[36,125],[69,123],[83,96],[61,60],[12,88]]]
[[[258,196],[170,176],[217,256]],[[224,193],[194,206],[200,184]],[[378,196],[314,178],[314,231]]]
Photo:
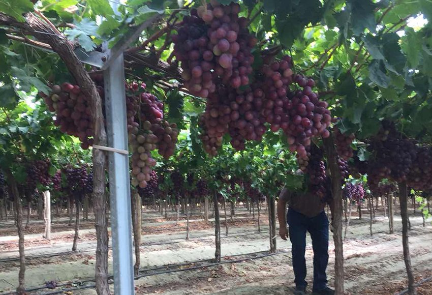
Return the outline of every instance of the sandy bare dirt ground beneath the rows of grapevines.
[[[411,212],[410,250],[416,281],[432,276],[432,222],[423,220]],[[167,219],[157,212],[145,212],[141,244],[142,275],[135,281],[137,294],[290,294],[293,286],[291,267],[291,244],[277,240],[279,254],[257,258],[256,255],[240,255],[267,251],[269,249],[268,219],[261,216],[261,233],[257,221],[245,210],[238,210],[232,221],[228,218],[229,234],[225,235],[222,224],[222,259],[229,262],[238,258],[252,258],[238,263],[225,263],[209,267],[198,267],[199,260],[214,256],[213,224],[206,224],[199,212],[190,218],[190,240],[186,241],[186,221],[175,221],[175,213],[168,212]],[[255,216],[256,217],[256,216]],[[221,218],[224,221],[224,218]],[[62,288],[91,284],[83,282],[94,276],[96,238],[92,221],[85,222],[76,253],[70,252],[73,242],[73,227],[67,225],[67,217],[54,218],[58,230],[53,239],[45,241],[39,232],[43,222],[32,220],[35,231],[26,234],[25,251],[26,286],[35,288],[45,281],[65,283]],[[18,278],[18,244],[13,221],[0,221],[0,292],[14,290]],[[406,287],[405,264],[402,252],[402,225],[395,214],[395,233],[388,233],[388,219],[377,212],[373,223],[374,235],[369,234],[369,216],[363,211],[363,219],[353,212],[347,239],[344,243],[345,290],[347,294],[393,294]],[[33,232],[33,233],[32,233]],[[6,233],[8,235],[6,235]],[[331,237],[331,234],[330,234]],[[328,280],[332,285],[334,251],[330,242]],[[240,256],[238,256],[240,255]],[[255,259],[257,258],[257,259]],[[307,237],[307,280],[312,283],[312,243]],[[110,263],[112,256],[110,253]],[[186,264],[187,262],[191,262]],[[164,265],[184,263],[175,270]],[[204,264],[206,265],[206,264]],[[146,269],[158,268],[165,273],[155,274]],[[181,271],[178,271],[181,270]],[[110,273],[112,265],[110,264]],[[312,286],[311,286],[312,287]],[[55,290],[61,290],[57,288]],[[44,294],[48,289],[30,291],[29,294]],[[52,291],[52,290],[51,290]],[[94,289],[73,290],[73,294],[96,294]],[[432,282],[422,284],[418,294],[432,294]]]

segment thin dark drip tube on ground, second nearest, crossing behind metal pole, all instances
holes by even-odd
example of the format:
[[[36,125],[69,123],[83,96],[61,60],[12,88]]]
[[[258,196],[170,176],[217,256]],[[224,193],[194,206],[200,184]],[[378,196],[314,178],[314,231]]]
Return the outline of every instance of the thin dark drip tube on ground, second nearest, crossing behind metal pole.
[[[267,230],[261,230],[261,232],[258,232],[258,231],[256,231],[256,232],[239,231],[237,233],[240,233],[240,234],[232,233],[228,237],[227,236],[221,237],[221,239],[243,237],[245,235],[257,235],[257,234],[262,234],[262,233],[267,233],[267,232],[268,232]],[[197,236],[197,237],[192,237],[189,240],[191,241],[191,240],[201,239],[202,241],[206,241],[206,240],[212,240],[212,239],[214,239],[214,237],[209,237],[209,238],[202,239],[204,237],[209,237],[209,235],[208,234],[206,234],[206,235],[200,235],[200,236]],[[172,242],[172,241],[170,241],[170,242],[146,242],[146,243],[142,243],[140,245],[140,248],[141,247],[146,247],[146,246],[148,247],[148,246],[171,245],[171,244],[178,244],[178,243],[182,243],[182,242],[184,242],[184,241],[182,240],[182,241],[174,241],[174,242]],[[111,246],[108,247],[108,249],[111,249]],[[51,258],[51,257],[56,257],[56,256],[61,256],[61,255],[81,254],[81,253],[95,252],[95,251],[96,251],[96,248],[89,249],[89,250],[76,251],[76,252],[74,252],[74,251],[66,251],[66,252],[56,252],[56,253],[48,253],[48,254],[37,254],[37,255],[25,256],[25,260],[38,259],[38,258]],[[0,263],[2,263],[2,262],[13,262],[13,261],[18,261],[18,260],[19,260],[19,257],[3,258],[3,259],[0,259]]]

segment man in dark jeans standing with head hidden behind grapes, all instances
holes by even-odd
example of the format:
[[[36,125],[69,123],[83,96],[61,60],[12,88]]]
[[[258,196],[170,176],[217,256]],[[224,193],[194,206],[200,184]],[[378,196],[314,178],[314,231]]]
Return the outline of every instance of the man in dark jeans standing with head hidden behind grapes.
[[[286,214],[286,204],[288,213]],[[277,201],[279,235],[283,240],[290,238],[295,276],[294,294],[306,294],[306,231],[311,234],[314,249],[314,295],[332,295],[334,290],[327,287],[326,268],[328,263],[328,219],[324,212],[325,203],[310,192],[292,193],[283,188]],[[286,216],[286,217],[285,217]],[[287,221],[289,230],[287,228]]]

